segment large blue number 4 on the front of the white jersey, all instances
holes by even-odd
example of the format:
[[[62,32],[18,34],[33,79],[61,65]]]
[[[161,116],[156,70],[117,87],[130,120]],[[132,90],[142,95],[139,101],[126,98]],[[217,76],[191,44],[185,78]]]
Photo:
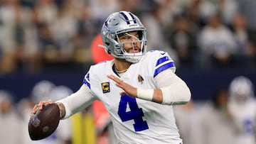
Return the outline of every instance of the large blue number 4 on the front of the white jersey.
[[[130,111],[127,111],[127,104],[129,105]],[[135,131],[144,131],[146,129],[149,129],[146,121],[143,121],[142,119],[144,113],[142,111],[142,108],[139,109],[135,98],[127,95],[121,96],[118,108],[118,115],[123,122],[134,120]]]

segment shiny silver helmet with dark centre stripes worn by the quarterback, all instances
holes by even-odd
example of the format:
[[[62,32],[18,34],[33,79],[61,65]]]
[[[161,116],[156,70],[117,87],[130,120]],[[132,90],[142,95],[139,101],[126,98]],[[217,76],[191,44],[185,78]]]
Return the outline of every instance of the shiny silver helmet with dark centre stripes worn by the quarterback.
[[[119,42],[119,34],[137,31],[139,38],[133,43],[141,43],[140,52],[129,53],[124,50],[124,43]],[[146,52],[146,28],[139,18],[129,11],[112,13],[102,26],[102,40],[106,52],[128,62],[139,62]]]

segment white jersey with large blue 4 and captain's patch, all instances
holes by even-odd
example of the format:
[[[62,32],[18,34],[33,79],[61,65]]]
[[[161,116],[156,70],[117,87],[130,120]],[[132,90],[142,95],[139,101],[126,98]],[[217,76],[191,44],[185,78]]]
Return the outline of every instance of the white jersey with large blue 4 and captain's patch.
[[[84,83],[109,111],[118,143],[181,144],[173,106],[120,96],[123,90],[107,77],[108,74],[119,76],[113,64],[112,60],[92,65]],[[155,77],[170,68],[175,72],[174,61],[167,52],[152,50],[119,78],[138,89],[156,89],[159,86]]]

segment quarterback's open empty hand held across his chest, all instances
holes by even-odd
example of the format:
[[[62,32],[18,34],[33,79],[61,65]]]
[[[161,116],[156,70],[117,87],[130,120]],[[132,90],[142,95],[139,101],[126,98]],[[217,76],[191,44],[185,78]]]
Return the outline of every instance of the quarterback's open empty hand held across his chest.
[[[107,75],[107,77],[116,82],[117,87],[120,87],[124,90],[124,92],[120,92],[121,96],[127,94],[131,97],[137,97],[137,88],[132,87],[130,84],[127,84],[126,82],[123,82],[122,79],[119,79],[118,77],[115,77],[112,74]]]

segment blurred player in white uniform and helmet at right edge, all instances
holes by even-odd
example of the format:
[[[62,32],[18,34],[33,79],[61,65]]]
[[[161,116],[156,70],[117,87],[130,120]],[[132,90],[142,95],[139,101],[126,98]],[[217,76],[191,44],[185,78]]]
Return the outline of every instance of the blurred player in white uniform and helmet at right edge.
[[[228,109],[236,128],[236,141],[255,144],[256,101],[253,84],[247,77],[235,77],[230,83]]]

